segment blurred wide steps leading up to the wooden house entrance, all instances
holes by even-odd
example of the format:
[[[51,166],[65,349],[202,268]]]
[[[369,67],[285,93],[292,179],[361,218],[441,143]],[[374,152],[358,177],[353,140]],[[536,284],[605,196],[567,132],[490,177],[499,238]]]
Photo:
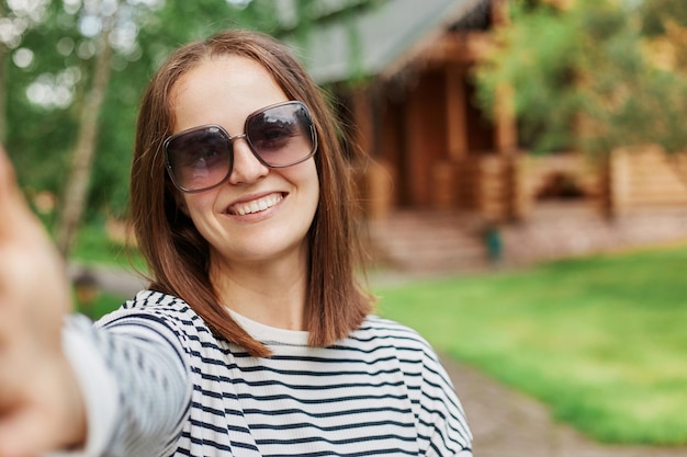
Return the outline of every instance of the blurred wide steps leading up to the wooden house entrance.
[[[472,215],[449,212],[397,212],[370,224],[374,262],[408,273],[483,271],[489,261],[484,225]]]

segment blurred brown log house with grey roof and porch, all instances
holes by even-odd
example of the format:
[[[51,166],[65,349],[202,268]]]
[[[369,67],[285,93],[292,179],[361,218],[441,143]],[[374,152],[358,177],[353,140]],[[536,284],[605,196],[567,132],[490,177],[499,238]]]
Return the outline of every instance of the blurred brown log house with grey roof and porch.
[[[353,13],[323,21],[294,46],[371,158],[360,192],[373,226],[416,214],[435,229],[469,227],[475,239],[478,227],[541,221],[552,206],[554,218],[566,208],[576,217],[687,207],[685,181],[656,148],[613,151],[604,163],[574,151],[534,157],[519,144],[508,91],[493,115],[477,107],[471,69],[492,27],[507,21],[507,0],[341,2]],[[444,232],[429,238],[442,238],[435,249],[446,252]]]

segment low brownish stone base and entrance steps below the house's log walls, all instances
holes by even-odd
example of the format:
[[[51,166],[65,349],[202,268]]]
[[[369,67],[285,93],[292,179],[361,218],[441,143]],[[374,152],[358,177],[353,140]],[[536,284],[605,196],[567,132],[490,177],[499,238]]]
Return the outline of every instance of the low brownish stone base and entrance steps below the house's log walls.
[[[394,210],[369,225],[374,270],[432,276],[517,269],[542,261],[665,243],[687,243],[684,205],[635,209],[608,218],[579,202],[537,205],[528,221],[498,227],[503,252],[492,259],[484,219],[440,209]]]

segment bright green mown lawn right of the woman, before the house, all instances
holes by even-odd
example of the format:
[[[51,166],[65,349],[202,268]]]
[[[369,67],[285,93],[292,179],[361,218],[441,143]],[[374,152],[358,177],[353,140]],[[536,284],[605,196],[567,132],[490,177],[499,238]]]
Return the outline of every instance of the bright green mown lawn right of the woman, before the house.
[[[607,443],[687,443],[687,247],[379,288],[383,316]]]

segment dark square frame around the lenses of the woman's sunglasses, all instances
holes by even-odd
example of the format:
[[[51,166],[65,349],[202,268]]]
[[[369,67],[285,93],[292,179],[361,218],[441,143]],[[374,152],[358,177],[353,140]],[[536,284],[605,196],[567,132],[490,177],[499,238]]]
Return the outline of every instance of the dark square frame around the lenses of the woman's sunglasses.
[[[255,146],[252,145],[252,142],[250,141],[250,139],[248,138],[247,134],[246,134],[246,129],[248,127],[248,123],[255,118],[256,116],[264,113],[268,110],[272,110],[275,107],[280,107],[280,106],[285,106],[285,105],[297,105],[301,106],[305,110],[305,114],[307,116],[307,121],[309,123],[309,134],[311,134],[311,138],[313,141],[313,148],[311,149],[311,151],[303,158],[294,161],[294,162],[290,162],[290,163],[285,163],[285,164],[280,164],[280,165],[273,165],[270,164],[268,162],[264,161],[264,159],[262,159],[260,157],[260,155],[258,153],[258,151],[256,150]],[[219,130],[219,135],[222,135],[222,137],[224,139],[226,139],[228,146],[229,146],[229,153],[232,155],[230,157],[230,164],[229,164],[229,169],[227,171],[226,176],[224,176],[218,183],[213,184],[211,186],[207,187],[203,187],[203,188],[187,188],[183,185],[181,185],[180,182],[177,181],[177,178],[174,176],[174,172],[172,170],[172,164],[171,161],[169,160],[169,145],[171,141],[173,141],[174,139],[181,137],[182,135],[187,135],[193,132],[201,132],[201,130],[205,130],[207,128],[216,128],[217,130]],[[315,152],[317,152],[317,130],[315,129],[315,123],[313,122],[313,116],[311,115],[311,111],[308,110],[307,105],[301,101],[297,100],[290,100],[286,102],[280,102],[280,103],[274,103],[272,105],[268,105],[268,106],[263,106],[261,108],[258,108],[256,111],[254,111],[252,113],[250,113],[248,116],[246,116],[246,121],[244,122],[244,133],[239,134],[239,135],[235,135],[232,136],[229,135],[229,133],[222,127],[221,125],[217,124],[205,124],[205,125],[199,125],[196,127],[191,127],[191,128],[187,128],[185,130],[181,130],[177,134],[170,135],[169,137],[167,137],[165,139],[165,141],[162,142],[162,148],[165,150],[165,168],[167,169],[167,174],[169,175],[172,184],[174,184],[174,187],[177,187],[178,190],[180,190],[183,193],[187,194],[195,194],[199,192],[205,192],[205,191],[210,191],[211,188],[217,187],[218,185],[224,184],[229,176],[232,175],[232,171],[234,171],[234,141],[236,141],[237,139],[244,138],[244,140],[246,140],[246,144],[248,145],[248,149],[250,149],[250,152],[254,155],[254,157],[256,159],[258,159],[258,161],[260,163],[262,163],[264,167],[267,168],[271,168],[271,169],[282,169],[282,168],[288,168],[288,167],[293,167],[299,163],[305,162],[307,159],[309,159],[311,157],[315,156]]]

